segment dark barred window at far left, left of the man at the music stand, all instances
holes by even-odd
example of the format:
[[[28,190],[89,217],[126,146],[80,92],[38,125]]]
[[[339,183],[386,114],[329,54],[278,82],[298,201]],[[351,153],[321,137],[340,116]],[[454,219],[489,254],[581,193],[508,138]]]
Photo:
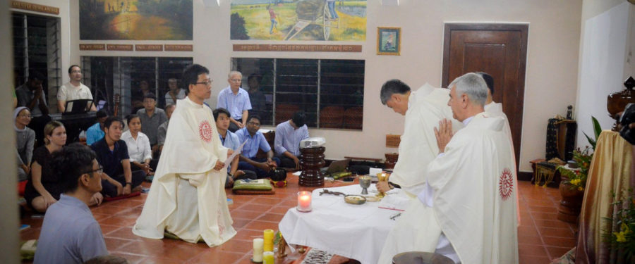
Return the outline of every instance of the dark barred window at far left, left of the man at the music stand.
[[[13,32],[13,77],[16,87],[24,84],[29,72],[42,73],[44,94],[49,108],[56,109],[56,94],[61,86],[61,51],[59,18],[19,12],[11,13]]]

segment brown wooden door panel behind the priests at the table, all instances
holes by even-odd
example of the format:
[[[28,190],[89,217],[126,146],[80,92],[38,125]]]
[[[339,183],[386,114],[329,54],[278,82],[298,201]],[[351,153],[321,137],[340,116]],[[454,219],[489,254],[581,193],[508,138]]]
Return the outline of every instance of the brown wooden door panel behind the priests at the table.
[[[527,58],[526,24],[447,23],[443,44],[442,87],[470,72],[494,77],[493,99],[502,103],[512,128],[516,170],[520,156]]]

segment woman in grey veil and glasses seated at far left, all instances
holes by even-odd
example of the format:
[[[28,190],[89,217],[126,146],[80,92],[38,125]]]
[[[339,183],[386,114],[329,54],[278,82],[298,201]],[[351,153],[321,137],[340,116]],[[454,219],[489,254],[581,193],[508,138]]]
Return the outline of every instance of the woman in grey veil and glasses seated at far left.
[[[18,159],[18,181],[28,179],[29,164],[33,156],[35,145],[35,131],[27,127],[31,122],[31,112],[24,106],[13,111],[13,124],[16,130],[16,156]]]

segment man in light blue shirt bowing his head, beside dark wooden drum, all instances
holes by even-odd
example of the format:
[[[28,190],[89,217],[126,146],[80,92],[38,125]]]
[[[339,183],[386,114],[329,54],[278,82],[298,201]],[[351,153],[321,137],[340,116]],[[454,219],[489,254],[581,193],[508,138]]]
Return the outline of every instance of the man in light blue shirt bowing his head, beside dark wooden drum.
[[[309,137],[305,121],[306,114],[298,111],[291,120],[276,126],[274,149],[280,157],[280,167],[300,170],[300,141]]]

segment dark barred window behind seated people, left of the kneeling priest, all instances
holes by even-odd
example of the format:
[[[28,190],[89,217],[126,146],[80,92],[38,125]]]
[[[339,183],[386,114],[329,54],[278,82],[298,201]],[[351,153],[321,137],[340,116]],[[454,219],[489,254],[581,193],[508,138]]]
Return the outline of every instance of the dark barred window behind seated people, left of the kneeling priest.
[[[183,88],[183,69],[192,63],[192,58],[180,57],[83,56],[83,83],[95,90],[95,101],[102,101],[109,113],[114,113],[115,98],[119,97],[119,116],[124,117],[143,107],[143,82],[157,96],[157,107],[164,108],[168,80],[179,80],[179,87]]]

